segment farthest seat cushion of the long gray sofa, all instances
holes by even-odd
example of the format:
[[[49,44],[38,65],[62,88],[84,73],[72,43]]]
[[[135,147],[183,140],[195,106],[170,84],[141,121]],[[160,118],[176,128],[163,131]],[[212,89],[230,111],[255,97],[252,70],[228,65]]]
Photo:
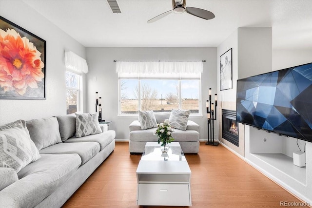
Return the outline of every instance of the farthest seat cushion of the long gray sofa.
[[[109,143],[111,143],[116,136],[116,132],[113,130],[109,130],[107,132],[88,135],[83,137],[72,137],[65,141],[65,143],[72,143],[72,142],[98,142],[100,146],[100,151],[103,150]]]

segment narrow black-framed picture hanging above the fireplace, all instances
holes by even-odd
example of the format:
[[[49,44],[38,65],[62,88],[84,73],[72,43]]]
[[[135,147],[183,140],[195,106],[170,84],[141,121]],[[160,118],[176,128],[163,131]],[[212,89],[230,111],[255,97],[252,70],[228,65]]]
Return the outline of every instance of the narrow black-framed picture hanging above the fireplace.
[[[220,56],[220,90],[232,89],[232,48]]]

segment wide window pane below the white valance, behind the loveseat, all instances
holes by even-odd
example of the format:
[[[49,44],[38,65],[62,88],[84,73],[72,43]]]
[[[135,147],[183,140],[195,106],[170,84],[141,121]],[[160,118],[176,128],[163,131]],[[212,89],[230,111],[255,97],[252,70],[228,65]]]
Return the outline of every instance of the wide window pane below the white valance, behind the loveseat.
[[[172,109],[200,112],[200,79],[119,79],[120,114]]]

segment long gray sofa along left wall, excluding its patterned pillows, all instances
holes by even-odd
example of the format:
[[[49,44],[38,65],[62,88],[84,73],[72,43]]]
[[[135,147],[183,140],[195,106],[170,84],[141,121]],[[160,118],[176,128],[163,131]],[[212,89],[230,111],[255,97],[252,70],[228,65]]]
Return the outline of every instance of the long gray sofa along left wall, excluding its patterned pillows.
[[[1,208],[59,208],[115,149],[115,131],[77,138],[76,116],[19,120],[39,150],[39,159],[16,172],[0,168]],[[3,134],[2,134],[3,135]],[[7,139],[6,139],[7,140]]]

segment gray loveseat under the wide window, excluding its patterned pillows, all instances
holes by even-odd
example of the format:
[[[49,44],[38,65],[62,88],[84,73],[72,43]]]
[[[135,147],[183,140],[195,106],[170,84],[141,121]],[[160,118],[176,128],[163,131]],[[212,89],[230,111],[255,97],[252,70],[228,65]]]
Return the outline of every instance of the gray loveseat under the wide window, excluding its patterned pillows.
[[[154,113],[157,123],[169,119],[169,112]],[[141,130],[138,120],[129,125],[129,151],[130,153],[141,153],[144,151],[146,142],[156,142],[157,137],[154,132],[157,128]],[[199,125],[188,120],[186,131],[174,129],[172,136],[175,142],[179,142],[184,153],[197,153],[199,151]]]

